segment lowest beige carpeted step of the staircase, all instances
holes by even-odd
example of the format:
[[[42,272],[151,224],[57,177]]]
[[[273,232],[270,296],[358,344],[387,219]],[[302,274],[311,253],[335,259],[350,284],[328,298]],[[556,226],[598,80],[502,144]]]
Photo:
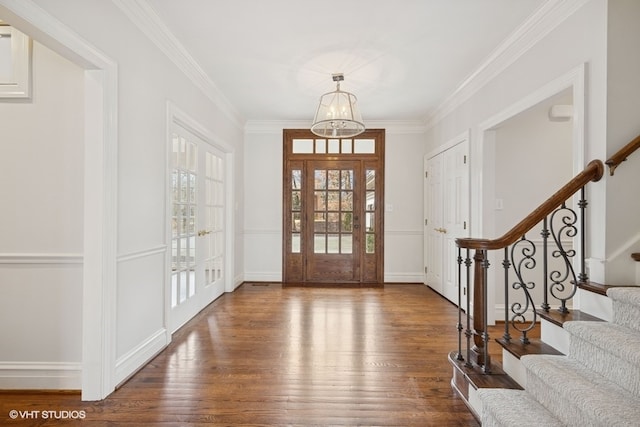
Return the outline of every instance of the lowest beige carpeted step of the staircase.
[[[483,427],[560,427],[564,426],[544,406],[524,390],[481,388]]]

